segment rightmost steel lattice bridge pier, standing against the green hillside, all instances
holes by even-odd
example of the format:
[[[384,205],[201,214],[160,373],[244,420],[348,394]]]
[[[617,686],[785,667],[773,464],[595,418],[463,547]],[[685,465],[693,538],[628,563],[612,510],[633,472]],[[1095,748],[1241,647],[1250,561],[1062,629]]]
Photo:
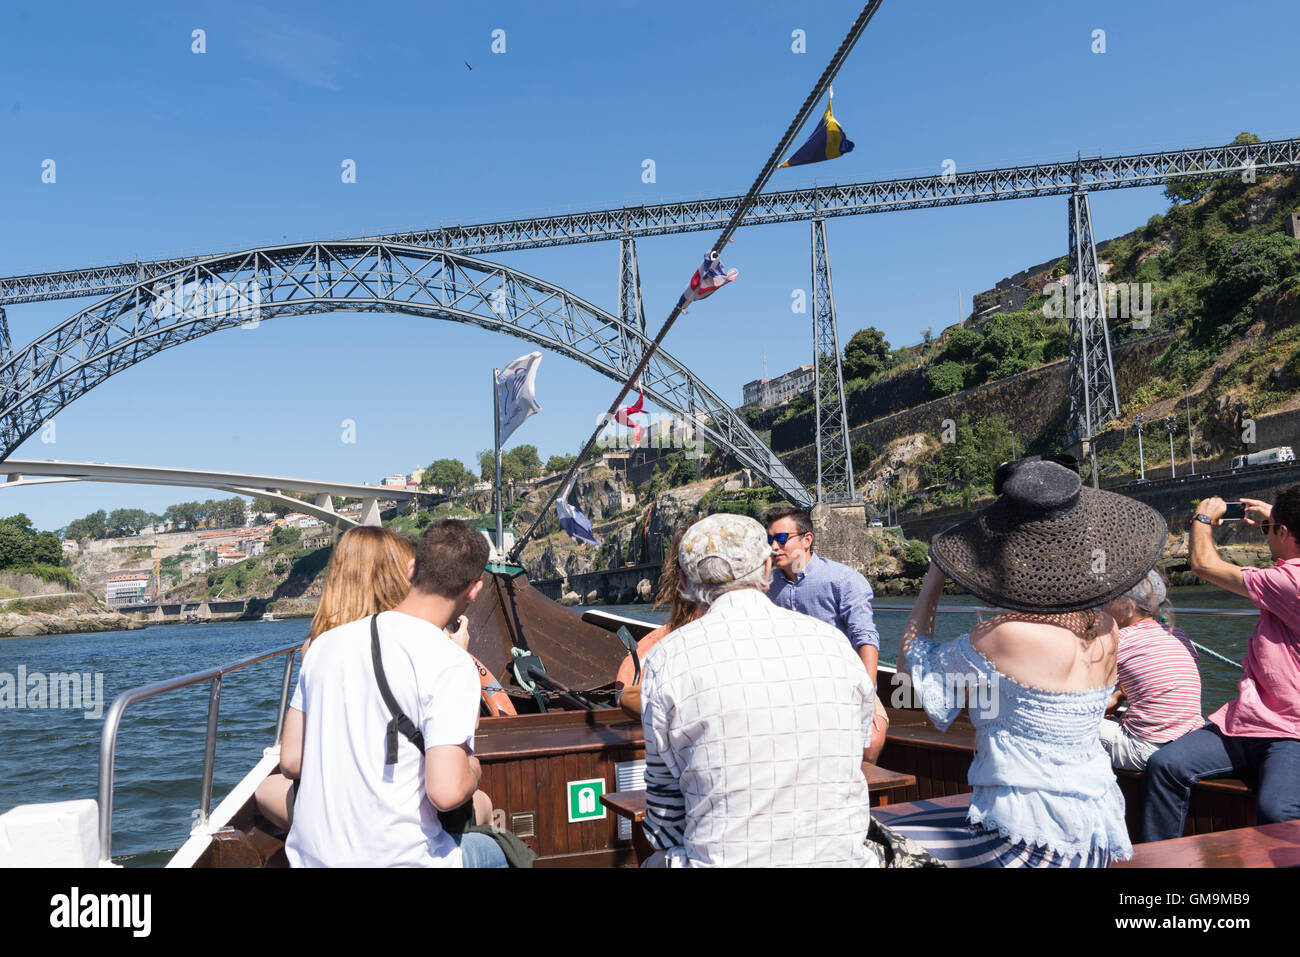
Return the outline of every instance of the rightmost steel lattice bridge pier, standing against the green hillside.
[[[1070,196],[1070,429],[1066,445],[1097,434],[1119,415],[1115,367],[1110,359],[1106,296],[1101,294],[1097,244],[1092,238],[1088,194]]]

